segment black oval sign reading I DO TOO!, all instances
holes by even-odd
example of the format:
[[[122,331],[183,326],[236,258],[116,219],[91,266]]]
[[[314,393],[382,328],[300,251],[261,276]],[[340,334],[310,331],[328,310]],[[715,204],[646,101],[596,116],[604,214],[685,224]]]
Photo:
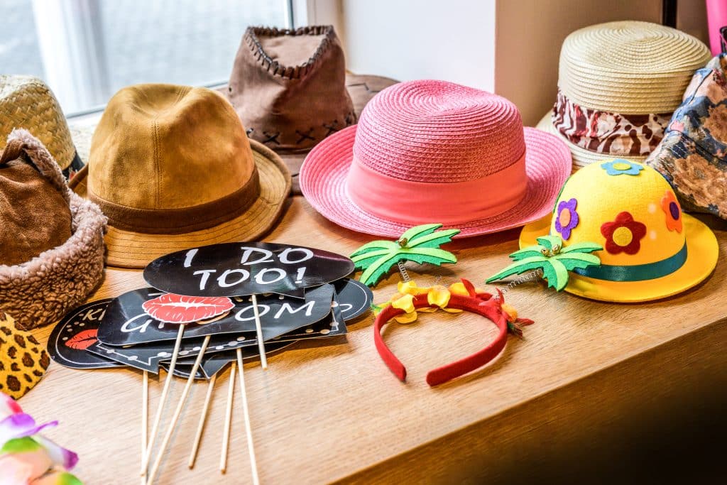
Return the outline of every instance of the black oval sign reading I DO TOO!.
[[[172,252],[144,269],[164,292],[200,297],[299,294],[353,272],[348,257],[322,249],[276,243],[225,243]]]

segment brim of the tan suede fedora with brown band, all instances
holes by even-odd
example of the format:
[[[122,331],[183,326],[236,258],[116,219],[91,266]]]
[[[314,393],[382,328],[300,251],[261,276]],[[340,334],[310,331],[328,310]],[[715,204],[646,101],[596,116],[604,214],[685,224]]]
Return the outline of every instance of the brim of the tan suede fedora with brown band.
[[[250,140],[252,155],[260,175],[260,196],[245,212],[212,228],[182,234],[151,234],[122,231],[111,223],[105,236],[106,264],[119,268],[145,268],[157,257],[195,246],[234,241],[253,241],[267,233],[283,212],[290,193],[291,179],[280,157],[260,143]],[[76,174],[71,188],[87,196],[88,165]]]

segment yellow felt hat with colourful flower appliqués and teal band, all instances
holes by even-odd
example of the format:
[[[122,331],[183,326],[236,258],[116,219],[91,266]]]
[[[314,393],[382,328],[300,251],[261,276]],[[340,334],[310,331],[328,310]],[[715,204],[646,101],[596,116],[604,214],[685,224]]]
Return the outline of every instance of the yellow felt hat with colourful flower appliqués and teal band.
[[[643,302],[683,292],[710,276],[719,247],[704,223],[683,214],[669,183],[635,161],[580,169],[563,185],[552,215],[526,225],[520,246],[547,234],[563,247],[603,246],[601,266],[575,270],[566,292],[593,300]]]

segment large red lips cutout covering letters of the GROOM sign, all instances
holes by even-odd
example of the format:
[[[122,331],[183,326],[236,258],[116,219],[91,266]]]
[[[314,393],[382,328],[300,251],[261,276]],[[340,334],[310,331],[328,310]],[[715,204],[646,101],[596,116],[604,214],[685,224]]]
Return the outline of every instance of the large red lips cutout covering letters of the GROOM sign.
[[[142,303],[152,318],[169,324],[188,324],[230,311],[235,304],[228,297],[188,297],[166,293]]]

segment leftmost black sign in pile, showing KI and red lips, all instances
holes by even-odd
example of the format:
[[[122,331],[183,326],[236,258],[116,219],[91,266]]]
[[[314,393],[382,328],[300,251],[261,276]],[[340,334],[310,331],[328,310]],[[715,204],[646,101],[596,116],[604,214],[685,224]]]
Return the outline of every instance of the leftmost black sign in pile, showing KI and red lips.
[[[122,366],[87,350],[98,340],[98,327],[111,300],[105,298],[81,305],[58,322],[48,337],[48,353],[55,362],[71,369]]]

